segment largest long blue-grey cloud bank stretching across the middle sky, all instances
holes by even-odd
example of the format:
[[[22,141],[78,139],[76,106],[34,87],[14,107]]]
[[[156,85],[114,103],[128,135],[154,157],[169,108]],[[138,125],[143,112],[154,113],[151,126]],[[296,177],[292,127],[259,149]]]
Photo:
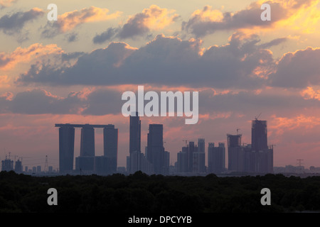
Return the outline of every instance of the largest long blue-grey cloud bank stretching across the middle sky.
[[[201,40],[157,35],[142,48],[110,43],[79,57],[72,67],[32,65],[18,83],[28,84],[158,84],[187,87],[261,87],[273,70],[272,52],[255,36],[233,35],[222,46],[201,48]]]

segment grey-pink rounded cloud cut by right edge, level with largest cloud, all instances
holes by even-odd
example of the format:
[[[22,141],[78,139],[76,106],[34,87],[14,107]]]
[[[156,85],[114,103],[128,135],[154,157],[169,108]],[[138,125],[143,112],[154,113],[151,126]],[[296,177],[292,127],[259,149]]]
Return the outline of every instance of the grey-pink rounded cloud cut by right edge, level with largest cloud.
[[[320,48],[306,48],[288,52],[277,62],[277,70],[270,74],[274,87],[306,88],[320,85]]]

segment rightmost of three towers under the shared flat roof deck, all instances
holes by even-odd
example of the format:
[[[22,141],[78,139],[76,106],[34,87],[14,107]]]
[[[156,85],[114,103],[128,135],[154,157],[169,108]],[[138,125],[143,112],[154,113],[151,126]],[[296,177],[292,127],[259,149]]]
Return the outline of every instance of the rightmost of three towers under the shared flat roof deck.
[[[103,151],[108,158],[107,172],[117,172],[118,129],[114,125],[103,128]]]

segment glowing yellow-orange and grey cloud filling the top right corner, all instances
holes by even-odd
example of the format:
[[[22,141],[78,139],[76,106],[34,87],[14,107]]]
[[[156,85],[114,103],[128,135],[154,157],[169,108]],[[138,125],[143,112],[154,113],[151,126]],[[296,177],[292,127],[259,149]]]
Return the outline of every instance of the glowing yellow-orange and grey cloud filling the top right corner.
[[[262,4],[270,4],[271,21],[262,21],[260,15]],[[202,36],[215,31],[238,30],[243,33],[274,31],[274,28],[299,29],[303,32],[313,31],[314,24],[320,19],[320,11],[316,5],[319,0],[270,0],[255,1],[245,9],[235,12],[222,12],[205,6],[191,14],[187,22],[183,22],[185,31]]]

